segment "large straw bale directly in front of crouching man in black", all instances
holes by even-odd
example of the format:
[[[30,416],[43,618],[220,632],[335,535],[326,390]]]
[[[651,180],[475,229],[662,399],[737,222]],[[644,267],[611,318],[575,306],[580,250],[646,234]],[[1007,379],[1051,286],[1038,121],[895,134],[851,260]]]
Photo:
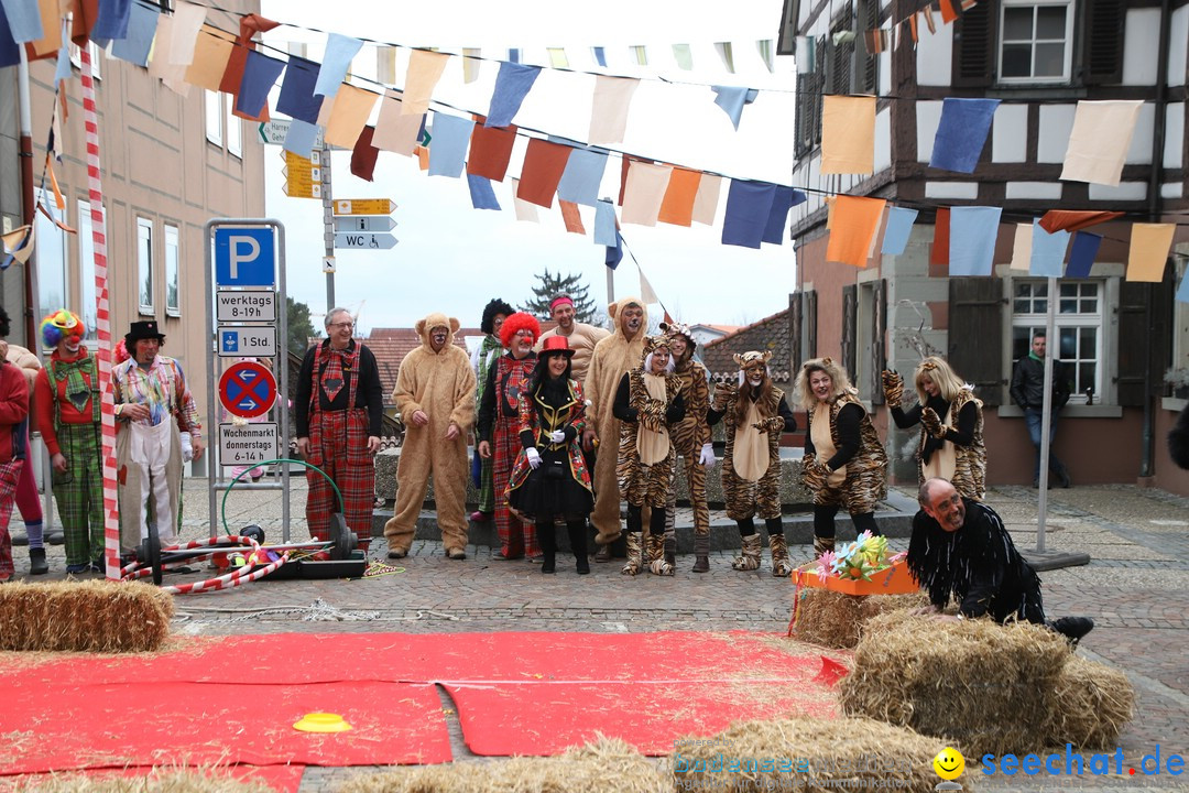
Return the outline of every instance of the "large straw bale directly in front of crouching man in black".
[[[968,756],[1021,754],[1045,745],[1070,655],[1040,625],[894,611],[868,623],[838,694],[848,715],[956,741]]]

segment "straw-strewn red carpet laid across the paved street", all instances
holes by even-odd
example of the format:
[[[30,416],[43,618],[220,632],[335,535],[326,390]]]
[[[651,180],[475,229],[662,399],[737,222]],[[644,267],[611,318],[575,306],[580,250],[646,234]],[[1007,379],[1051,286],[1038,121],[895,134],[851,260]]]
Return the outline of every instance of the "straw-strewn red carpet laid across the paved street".
[[[813,680],[820,649],[742,631],[279,634],[174,647],[0,654],[0,734],[20,736],[0,745],[0,774],[446,762],[433,682],[455,698],[467,745],[484,755],[555,754],[596,731],[662,755],[677,737],[736,719],[836,712],[829,685]],[[354,730],[291,728],[314,711],[341,713]]]

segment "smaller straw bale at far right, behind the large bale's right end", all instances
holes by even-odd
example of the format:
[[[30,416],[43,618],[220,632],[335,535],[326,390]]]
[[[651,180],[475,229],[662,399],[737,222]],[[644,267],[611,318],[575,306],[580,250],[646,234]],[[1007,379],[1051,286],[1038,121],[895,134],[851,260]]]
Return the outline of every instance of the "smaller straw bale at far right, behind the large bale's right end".
[[[1135,690],[1122,672],[1072,655],[1057,678],[1053,699],[1048,745],[1108,749],[1119,745],[1119,732],[1131,720]]]

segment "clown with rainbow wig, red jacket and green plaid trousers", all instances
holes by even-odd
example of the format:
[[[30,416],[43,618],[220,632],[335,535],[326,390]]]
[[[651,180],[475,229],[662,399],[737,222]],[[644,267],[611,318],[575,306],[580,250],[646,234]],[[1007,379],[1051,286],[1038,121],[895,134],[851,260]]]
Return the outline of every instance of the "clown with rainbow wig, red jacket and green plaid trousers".
[[[100,384],[95,357],[82,344],[87,328],[65,309],[42,320],[54,350],[33,384],[37,422],[50,451],[54,497],[65,534],[67,572],[103,571],[103,480]]]

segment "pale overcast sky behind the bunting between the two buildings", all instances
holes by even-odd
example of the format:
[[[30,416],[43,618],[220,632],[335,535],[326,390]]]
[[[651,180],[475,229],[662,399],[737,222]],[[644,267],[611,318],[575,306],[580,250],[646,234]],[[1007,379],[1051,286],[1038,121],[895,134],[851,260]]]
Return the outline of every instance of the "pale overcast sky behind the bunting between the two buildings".
[[[333,5],[264,0],[262,11],[289,24],[269,33],[270,43],[304,42],[308,57],[315,61],[321,61],[325,34],[290,25],[447,51],[480,48],[483,56],[491,58],[507,57],[509,46],[518,46],[524,48],[524,62],[536,65],[546,65],[546,46],[565,46],[571,67],[578,70],[596,69],[590,48],[604,46],[609,74],[698,83],[643,80],[631,102],[624,150],[726,176],[788,184],[793,64],[791,58],[778,58],[775,74],[769,74],[755,44],[757,39],[775,39],[780,5],[780,0],[611,0],[579,8],[555,1],[442,0],[419,4],[414,17],[403,18],[398,11],[376,11],[377,4],[361,0]],[[559,13],[560,7],[565,7],[564,13]],[[715,52],[713,43],[721,40],[734,43],[734,75]],[[691,45],[692,71],[677,68],[674,43]],[[629,62],[629,45],[647,46],[647,70]],[[397,50],[397,88],[403,84],[407,59],[408,50]],[[373,61],[365,48],[353,71],[375,77]],[[479,78],[467,84],[460,58],[451,58],[434,99],[464,111],[486,112],[497,70],[497,63],[484,63]],[[516,124],[584,140],[593,81],[586,74],[542,70]],[[706,84],[768,90],[761,90],[744,108],[735,131],[726,114],[713,105]],[[524,145],[522,137],[510,175],[518,174]],[[282,156],[279,146],[265,147],[266,210],[285,225],[290,295],[309,303],[315,313],[325,311],[321,202],[282,193]],[[509,181],[495,185],[502,212],[478,210],[471,207],[465,177],[429,177],[416,161],[391,152],[380,152],[372,183],[351,175],[350,152],[336,152],[333,180],[336,199],[386,197],[398,204],[394,233],[400,243],[395,248],[336,252],[335,302],[358,311],[365,331],[410,326],[430,311],[445,311],[464,326],[477,326],[487,300],[503,297],[514,306],[523,302],[536,283],[534,273],[546,268],[583,276],[591,294],[605,302],[604,248],[593,244],[593,210],[589,208],[583,208],[587,235],[566,233],[556,202],[549,210],[540,209],[540,224],[518,222]],[[612,156],[602,195],[616,195],[618,180],[619,161]],[[759,251],[722,245],[726,189],[724,180],[712,227],[623,227],[624,240],[648,281],[681,321],[742,325],[788,304],[795,283],[792,244],[786,240]],[[615,294],[638,291],[636,266],[625,256],[615,273]]]

